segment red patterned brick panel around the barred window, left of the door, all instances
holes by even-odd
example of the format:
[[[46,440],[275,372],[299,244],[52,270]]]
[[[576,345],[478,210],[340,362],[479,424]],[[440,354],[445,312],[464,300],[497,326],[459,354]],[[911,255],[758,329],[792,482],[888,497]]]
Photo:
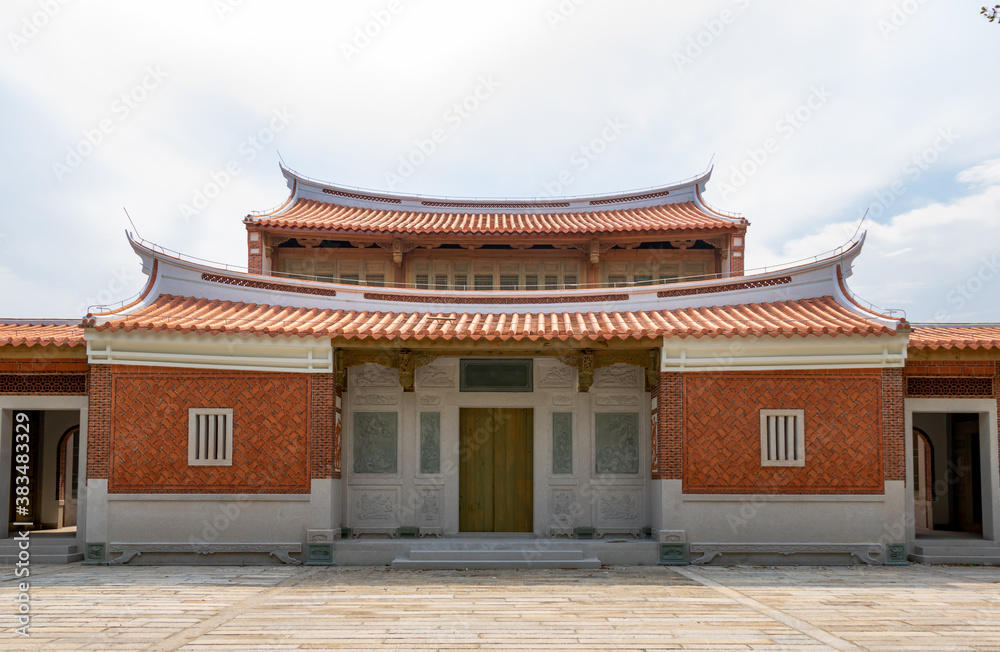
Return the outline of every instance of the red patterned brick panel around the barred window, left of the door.
[[[114,367],[109,491],[310,491],[311,376]],[[321,393],[322,390],[316,390]],[[188,466],[188,410],[233,408],[232,466]]]

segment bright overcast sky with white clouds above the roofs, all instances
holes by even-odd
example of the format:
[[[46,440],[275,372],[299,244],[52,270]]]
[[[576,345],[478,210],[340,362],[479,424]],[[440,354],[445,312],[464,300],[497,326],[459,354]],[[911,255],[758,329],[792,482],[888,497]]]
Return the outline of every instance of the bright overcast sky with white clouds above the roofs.
[[[0,316],[143,277],[124,231],[246,263],[278,152],[406,193],[715,174],[748,267],[843,244],[911,321],[1000,321],[1000,25],[943,0],[5,0]],[[434,137],[437,141],[434,142]],[[413,165],[412,163],[416,163]]]

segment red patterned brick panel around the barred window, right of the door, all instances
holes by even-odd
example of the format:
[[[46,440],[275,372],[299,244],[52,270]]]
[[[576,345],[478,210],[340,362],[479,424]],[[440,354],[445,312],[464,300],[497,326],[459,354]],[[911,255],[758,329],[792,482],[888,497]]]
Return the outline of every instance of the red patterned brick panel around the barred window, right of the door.
[[[883,493],[881,385],[878,370],[684,374],[685,493]],[[805,410],[804,467],[761,466],[763,409]]]

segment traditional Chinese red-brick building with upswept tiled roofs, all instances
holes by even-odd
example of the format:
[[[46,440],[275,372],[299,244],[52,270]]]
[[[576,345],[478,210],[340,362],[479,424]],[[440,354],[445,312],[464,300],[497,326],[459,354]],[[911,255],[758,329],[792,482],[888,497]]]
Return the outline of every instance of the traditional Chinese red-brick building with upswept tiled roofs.
[[[863,237],[745,275],[709,174],[466,201],[282,171],[247,268],[130,236],[134,301],[0,320],[0,504],[52,560],[1000,562],[1000,326],[859,301]]]

